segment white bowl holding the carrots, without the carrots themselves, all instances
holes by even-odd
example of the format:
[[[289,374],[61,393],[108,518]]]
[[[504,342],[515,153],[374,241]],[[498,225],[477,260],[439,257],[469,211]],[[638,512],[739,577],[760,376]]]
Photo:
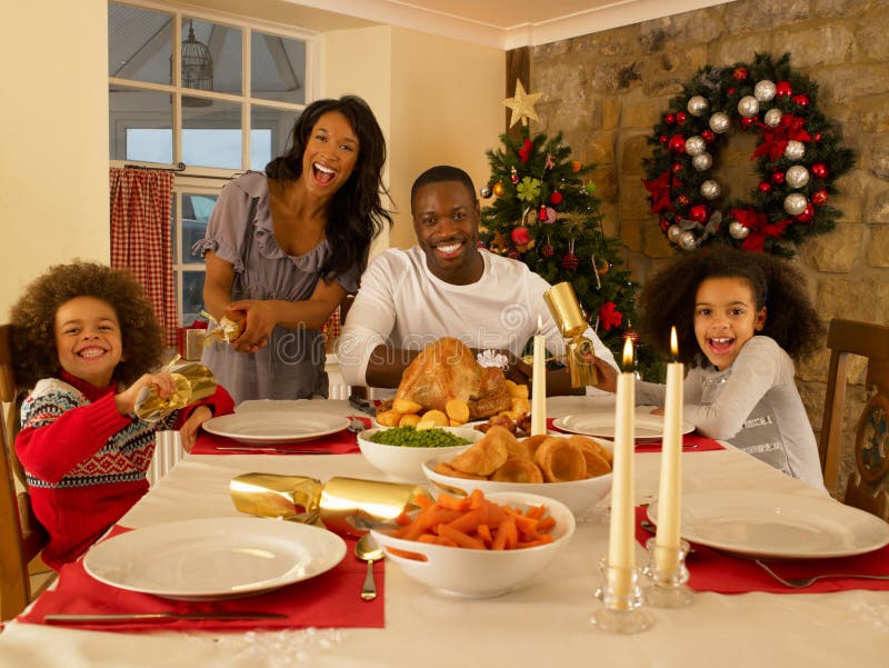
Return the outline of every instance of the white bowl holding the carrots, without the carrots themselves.
[[[372,529],[371,534],[386,552],[386,558],[418,582],[449,596],[500,596],[530,585],[535,576],[552,561],[575,534],[575,516],[563,504],[537,495],[513,491],[486,495],[486,498],[522,510],[546,506],[556,520],[550,531],[555,540],[536,547],[493,551],[403,540],[378,529]],[[413,552],[419,558],[402,557],[391,552],[392,548]]]

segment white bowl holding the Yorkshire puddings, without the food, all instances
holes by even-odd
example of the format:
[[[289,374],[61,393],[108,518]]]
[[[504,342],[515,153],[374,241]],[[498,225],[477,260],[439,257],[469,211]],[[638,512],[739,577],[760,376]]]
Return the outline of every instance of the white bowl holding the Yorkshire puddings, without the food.
[[[610,443],[601,440],[599,442],[609,450],[611,449]],[[423,462],[422,469],[426,477],[436,487],[451,493],[469,493],[473,489],[481,490],[486,497],[496,492],[533,493],[565,504],[571,512],[580,515],[611,491],[611,473],[570,482],[498,482],[496,480],[453,478],[434,471],[436,463],[449,460],[450,458],[447,456],[433,457]]]

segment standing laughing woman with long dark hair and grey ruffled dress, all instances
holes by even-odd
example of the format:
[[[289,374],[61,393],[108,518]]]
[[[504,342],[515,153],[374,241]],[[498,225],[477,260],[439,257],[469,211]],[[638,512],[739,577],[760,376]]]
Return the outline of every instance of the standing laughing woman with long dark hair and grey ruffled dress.
[[[264,175],[248,172],[220,193],[193,250],[207,260],[207,310],[243,323],[203,355],[236,401],[328,396],[321,326],[357,291],[370,241],[391,221],[384,161],[363,100],[319,100]]]

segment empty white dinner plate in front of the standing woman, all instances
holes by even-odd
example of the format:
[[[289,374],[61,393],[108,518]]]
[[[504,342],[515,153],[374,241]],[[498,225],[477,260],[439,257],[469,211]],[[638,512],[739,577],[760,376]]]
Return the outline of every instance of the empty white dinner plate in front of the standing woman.
[[[210,418],[203,428],[243,443],[287,443],[342,431],[349,419],[326,412],[248,410]]]

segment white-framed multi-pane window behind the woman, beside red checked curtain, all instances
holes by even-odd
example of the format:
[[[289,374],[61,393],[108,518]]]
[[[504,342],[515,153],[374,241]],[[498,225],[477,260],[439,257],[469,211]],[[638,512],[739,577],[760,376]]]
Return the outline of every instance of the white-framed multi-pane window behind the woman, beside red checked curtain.
[[[204,265],[191,247],[219,190],[283,152],[313,99],[314,34],[254,28],[192,8],[108,4],[109,158],[177,172],[170,225],[182,326],[203,308]]]

